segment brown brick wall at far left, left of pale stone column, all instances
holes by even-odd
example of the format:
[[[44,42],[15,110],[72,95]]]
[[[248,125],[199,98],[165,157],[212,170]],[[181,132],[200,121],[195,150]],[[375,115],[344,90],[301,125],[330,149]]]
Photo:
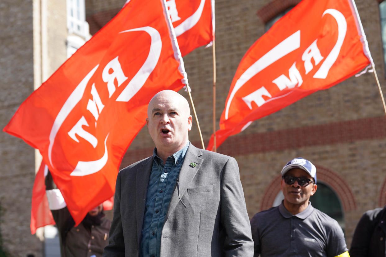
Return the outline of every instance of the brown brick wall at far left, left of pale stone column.
[[[32,3],[5,0],[0,3],[0,128],[8,123],[20,102],[32,93]],[[41,242],[29,230],[34,151],[21,139],[0,133],[1,233],[11,256],[39,253]]]

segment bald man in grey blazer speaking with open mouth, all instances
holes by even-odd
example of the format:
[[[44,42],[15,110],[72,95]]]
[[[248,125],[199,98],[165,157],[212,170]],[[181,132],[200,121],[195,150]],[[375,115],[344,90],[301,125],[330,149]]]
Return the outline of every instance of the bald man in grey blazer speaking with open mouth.
[[[253,256],[236,160],[189,142],[192,116],[177,92],[157,93],[147,116],[156,148],[117,176],[103,256]]]

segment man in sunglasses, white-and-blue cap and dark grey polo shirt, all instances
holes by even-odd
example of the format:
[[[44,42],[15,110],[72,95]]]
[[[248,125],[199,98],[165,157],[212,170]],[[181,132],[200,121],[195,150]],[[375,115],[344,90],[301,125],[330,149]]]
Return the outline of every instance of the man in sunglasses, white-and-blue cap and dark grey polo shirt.
[[[317,190],[315,166],[295,158],[281,176],[284,200],[251,220],[254,256],[349,257],[338,222],[309,202]]]

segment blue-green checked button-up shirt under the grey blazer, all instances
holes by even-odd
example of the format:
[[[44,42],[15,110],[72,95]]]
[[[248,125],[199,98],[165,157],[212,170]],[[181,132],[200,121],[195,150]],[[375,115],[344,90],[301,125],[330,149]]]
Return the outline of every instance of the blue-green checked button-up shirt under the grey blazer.
[[[157,149],[154,148],[154,162],[149,186],[147,186],[145,217],[139,248],[140,257],[160,257],[161,233],[166,212],[188,146],[189,143],[174,155],[169,156],[165,165],[163,160],[157,156]]]

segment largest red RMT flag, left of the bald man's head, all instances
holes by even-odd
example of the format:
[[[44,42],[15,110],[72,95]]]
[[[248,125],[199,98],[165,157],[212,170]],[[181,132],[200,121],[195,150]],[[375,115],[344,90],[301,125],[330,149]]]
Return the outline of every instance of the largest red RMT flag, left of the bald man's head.
[[[39,149],[76,225],[112,197],[151,97],[183,86],[164,12],[160,0],[131,0],[3,129]]]

